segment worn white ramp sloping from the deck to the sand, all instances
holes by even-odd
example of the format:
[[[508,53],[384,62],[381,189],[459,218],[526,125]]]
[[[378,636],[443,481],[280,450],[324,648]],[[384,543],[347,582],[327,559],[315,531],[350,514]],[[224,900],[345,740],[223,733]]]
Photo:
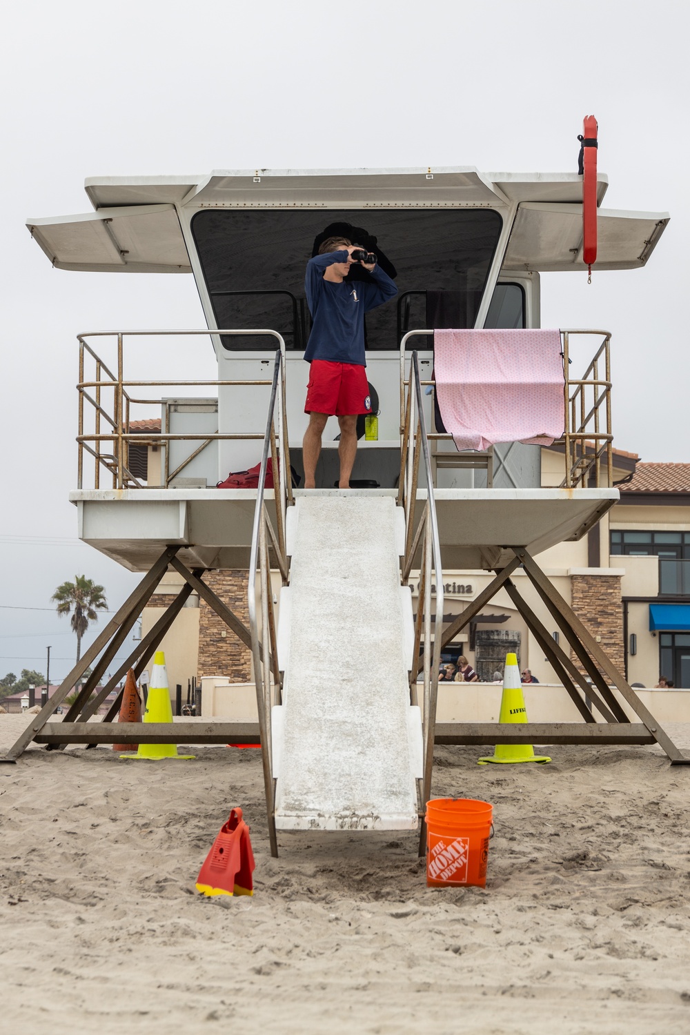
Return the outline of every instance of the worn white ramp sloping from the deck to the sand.
[[[422,735],[410,706],[403,531],[390,497],[316,491],[290,508],[283,703],[272,721],[278,830],[417,827]]]

